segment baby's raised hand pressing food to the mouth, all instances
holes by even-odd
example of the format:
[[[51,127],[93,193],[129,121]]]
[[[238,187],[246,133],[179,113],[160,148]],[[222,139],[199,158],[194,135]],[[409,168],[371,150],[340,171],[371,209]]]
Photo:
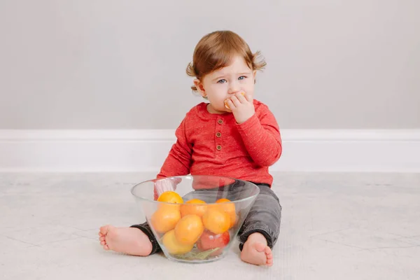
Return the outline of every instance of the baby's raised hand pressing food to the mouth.
[[[228,99],[228,105],[237,123],[245,123],[255,113],[253,99],[248,94],[242,95],[241,92],[235,93]]]

